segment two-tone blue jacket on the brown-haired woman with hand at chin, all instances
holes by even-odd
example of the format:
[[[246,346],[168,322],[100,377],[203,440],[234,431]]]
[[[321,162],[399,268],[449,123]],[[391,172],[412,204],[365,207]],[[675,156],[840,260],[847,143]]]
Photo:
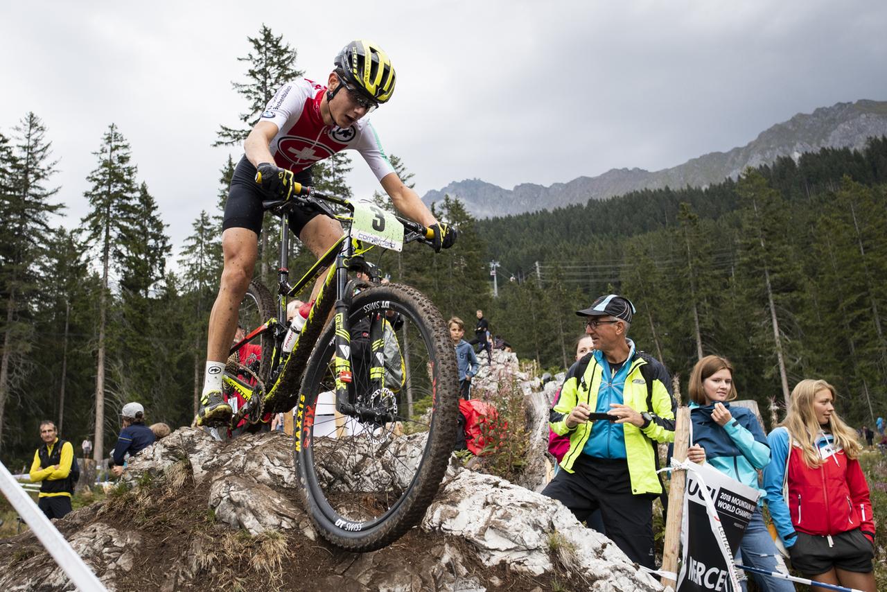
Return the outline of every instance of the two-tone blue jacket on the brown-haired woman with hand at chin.
[[[761,493],[757,505],[766,496],[757,485],[757,470],[770,462],[770,446],[757,416],[745,407],[730,407],[724,403],[733,419],[721,426],[711,419],[714,405],[701,407],[690,403],[690,423],[693,429],[690,445],[705,449],[705,461],[712,467]]]

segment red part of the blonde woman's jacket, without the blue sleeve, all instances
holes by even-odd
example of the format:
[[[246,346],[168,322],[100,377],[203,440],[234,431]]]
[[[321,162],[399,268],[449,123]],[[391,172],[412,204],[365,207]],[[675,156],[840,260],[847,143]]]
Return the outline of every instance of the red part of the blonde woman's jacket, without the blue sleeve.
[[[860,462],[838,450],[819,467],[804,462],[799,446],[789,454],[789,512],[795,530],[822,536],[859,528],[875,540],[872,502]]]

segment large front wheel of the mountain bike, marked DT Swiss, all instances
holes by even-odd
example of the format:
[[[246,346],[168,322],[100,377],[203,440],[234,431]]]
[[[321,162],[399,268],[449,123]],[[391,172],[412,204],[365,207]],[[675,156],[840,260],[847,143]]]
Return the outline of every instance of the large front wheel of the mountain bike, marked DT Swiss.
[[[459,381],[446,325],[418,290],[367,289],[348,316],[349,396],[378,414],[335,411],[331,323],[302,382],[295,457],[303,505],[321,535],[342,549],[371,551],[416,525],[437,492],[456,437]],[[362,331],[373,322],[385,346],[369,356]],[[379,355],[383,372],[370,362]]]

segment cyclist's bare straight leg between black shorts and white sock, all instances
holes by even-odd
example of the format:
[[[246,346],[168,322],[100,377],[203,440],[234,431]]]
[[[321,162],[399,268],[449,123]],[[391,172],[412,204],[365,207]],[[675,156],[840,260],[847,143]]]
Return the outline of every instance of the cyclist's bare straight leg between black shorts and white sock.
[[[229,228],[222,233],[224,269],[216,303],[209,314],[207,361],[224,362],[228,359],[237,330],[240,301],[253,278],[255,258],[258,257],[257,239],[258,236],[247,228]]]

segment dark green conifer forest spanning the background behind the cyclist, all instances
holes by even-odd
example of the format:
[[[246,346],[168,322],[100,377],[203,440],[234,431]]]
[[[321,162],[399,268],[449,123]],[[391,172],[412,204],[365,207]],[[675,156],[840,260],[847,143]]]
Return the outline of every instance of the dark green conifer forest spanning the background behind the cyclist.
[[[263,27],[249,42],[248,75],[234,83],[243,113],[220,123],[217,146],[242,143],[279,85],[302,74],[282,36]],[[200,391],[236,162],[219,162],[216,202],[174,245],[126,130],[108,122],[83,149],[94,154],[81,196],[89,212],[71,220],[52,130],[35,113],[0,121],[0,457],[13,471],[30,462],[43,419],[78,453],[95,438],[100,459],[125,402],[175,428],[192,422]],[[409,155],[390,159],[412,186]],[[336,155],[315,167],[315,184],[349,196],[351,166]],[[637,307],[629,337],[639,349],[682,383],[703,355],[725,356],[740,399],[756,399],[765,422],[802,378],[834,384],[836,409],[855,427],[887,413],[887,138],[705,188],[483,220],[458,195],[434,209],[459,228],[453,249],[409,245],[371,260],[430,296],[444,319],[466,320],[469,337],[483,309],[521,359],[562,371],[584,332],[575,312],[618,293]],[[255,268],[266,285],[276,282],[277,240],[266,217]],[[293,241],[290,269],[313,261]]]

